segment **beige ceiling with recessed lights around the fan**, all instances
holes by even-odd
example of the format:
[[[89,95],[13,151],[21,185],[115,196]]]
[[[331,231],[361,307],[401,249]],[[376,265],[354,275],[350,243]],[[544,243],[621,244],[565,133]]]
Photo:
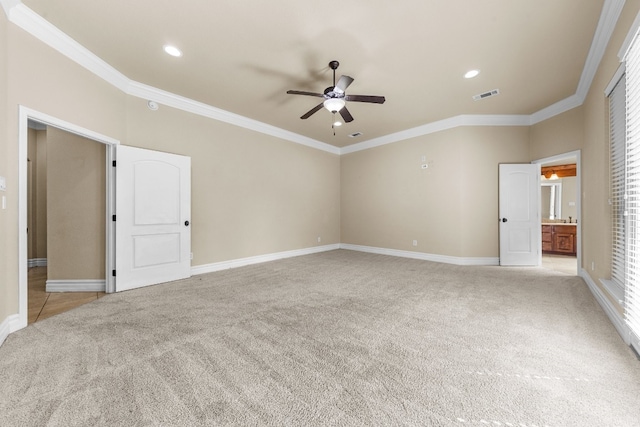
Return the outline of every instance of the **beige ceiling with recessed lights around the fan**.
[[[337,147],[458,115],[531,115],[576,94],[604,0],[23,0],[133,81]],[[166,55],[166,43],[184,55]],[[299,117],[337,76],[355,118]],[[478,77],[466,80],[473,68]],[[474,101],[473,95],[500,95]],[[347,135],[362,132],[359,138]]]

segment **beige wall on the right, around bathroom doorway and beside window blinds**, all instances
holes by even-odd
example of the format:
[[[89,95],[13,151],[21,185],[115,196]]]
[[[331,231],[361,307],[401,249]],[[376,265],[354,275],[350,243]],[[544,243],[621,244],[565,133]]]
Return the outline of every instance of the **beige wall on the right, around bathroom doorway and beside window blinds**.
[[[533,159],[581,150],[582,267],[598,286],[599,279],[609,278],[611,268],[608,108],[604,90],[620,65],[618,51],[639,10],[639,0],[625,3],[583,106],[539,123],[531,132]],[[622,310],[615,301],[612,303]]]

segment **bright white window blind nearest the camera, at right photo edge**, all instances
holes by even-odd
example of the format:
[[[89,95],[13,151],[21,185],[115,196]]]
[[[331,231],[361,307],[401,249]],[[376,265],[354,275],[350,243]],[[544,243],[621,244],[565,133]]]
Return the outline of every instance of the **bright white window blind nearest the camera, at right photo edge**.
[[[640,42],[633,41],[626,57],[626,274],[625,321],[631,342],[640,351]]]

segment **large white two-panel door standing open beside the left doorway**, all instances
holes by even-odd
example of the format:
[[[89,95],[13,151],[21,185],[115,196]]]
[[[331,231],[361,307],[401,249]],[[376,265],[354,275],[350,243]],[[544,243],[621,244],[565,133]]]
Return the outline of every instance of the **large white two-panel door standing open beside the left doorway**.
[[[191,158],[116,148],[116,292],[191,274]]]

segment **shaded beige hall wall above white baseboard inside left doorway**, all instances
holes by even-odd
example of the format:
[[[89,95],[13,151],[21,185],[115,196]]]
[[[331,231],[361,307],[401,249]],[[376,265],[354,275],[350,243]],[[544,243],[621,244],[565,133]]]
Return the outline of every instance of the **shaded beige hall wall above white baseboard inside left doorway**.
[[[105,279],[105,146],[47,129],[47,278]]]

